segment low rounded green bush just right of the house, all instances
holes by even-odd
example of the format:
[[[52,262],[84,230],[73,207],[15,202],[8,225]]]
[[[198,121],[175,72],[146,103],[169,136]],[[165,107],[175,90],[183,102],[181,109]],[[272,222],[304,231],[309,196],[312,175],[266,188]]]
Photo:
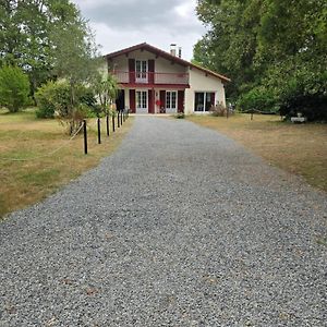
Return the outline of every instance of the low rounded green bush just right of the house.
[[[240,111],[276,112],[278,111],[278,102],[272,92],[265,87],[255,87],[240,97],[237,108]]]

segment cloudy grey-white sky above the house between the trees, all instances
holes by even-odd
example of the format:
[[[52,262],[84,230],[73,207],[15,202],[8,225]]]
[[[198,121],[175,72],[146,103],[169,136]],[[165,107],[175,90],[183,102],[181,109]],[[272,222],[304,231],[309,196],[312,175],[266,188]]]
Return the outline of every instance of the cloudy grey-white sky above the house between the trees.
[[[205,34],[195,14],[196,0],[72,0],[96,33],[101,53],[141,43],[169,51],[182,47],[192,59],[193,46]]]

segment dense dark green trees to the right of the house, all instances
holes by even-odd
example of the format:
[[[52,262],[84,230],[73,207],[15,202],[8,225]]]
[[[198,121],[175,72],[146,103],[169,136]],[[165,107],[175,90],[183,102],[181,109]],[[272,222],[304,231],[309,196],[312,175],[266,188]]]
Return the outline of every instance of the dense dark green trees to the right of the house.
[[[326,0],[198,0],[194,62],[232,80],[241,110],[327,120]]]

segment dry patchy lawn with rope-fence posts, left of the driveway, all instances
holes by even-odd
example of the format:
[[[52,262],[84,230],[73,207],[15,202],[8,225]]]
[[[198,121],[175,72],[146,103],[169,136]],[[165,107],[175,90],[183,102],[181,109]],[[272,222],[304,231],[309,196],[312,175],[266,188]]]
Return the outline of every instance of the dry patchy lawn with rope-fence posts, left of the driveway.
[[[1,109],[0,217],[45,198],[97,166],[101,158],[110,155],[120,145],[132,125],[132,120],[130,118],[109,138],[106,136],[102,120],[101,145],[97,144],[96,120],[89,120],[88,155],[85,156],[83,135],[69,142],[65,128],[58,121],[37,119],[34,109],[19,113],[8,113]],[[47,156],[59,147],[62,147],[59,152]]]

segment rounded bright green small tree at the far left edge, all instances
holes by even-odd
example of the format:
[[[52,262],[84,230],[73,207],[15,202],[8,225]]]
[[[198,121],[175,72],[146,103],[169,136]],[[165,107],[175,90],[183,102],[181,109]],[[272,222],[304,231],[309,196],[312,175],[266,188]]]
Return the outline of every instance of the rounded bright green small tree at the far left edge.
[[[5,65],[0,70],[0,105],[16,112],[27,104],[28,94],[29,81],[20,68]]]

